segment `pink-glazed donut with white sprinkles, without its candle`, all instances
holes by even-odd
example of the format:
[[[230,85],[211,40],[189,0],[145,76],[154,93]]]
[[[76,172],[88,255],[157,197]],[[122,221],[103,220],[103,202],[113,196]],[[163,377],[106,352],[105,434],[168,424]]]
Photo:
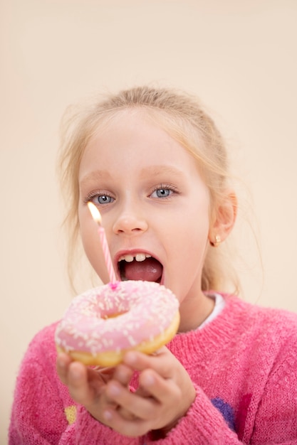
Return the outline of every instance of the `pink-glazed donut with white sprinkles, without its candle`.
[[[58,352],[85,365],[115,366],[127,350],[151,354],[179,327],[179,301],[155,282],[115,282],[76,296],[56,327]]]

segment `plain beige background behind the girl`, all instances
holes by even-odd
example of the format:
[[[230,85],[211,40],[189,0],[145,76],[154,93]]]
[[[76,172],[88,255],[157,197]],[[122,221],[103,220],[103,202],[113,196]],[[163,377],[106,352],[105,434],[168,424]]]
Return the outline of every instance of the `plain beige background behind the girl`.
[[[55,176],[58,124],[71,102],[155,80],[199,95],[224,129],[255,208],[264,274],[239,220],[244,298],[297,311],[297,3],[2,0],[0,7],[5,444],[28,342],[71,299]]]

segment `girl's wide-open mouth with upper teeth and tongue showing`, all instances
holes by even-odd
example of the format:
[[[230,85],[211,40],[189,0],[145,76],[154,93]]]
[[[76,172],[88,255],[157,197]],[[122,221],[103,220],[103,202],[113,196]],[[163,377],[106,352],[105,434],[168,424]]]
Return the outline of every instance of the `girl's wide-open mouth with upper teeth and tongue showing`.
[[[160,261],[143,252],[122,255],[118,260],[118,270],[122,281],[141,280],[160,283],[163,274]]]

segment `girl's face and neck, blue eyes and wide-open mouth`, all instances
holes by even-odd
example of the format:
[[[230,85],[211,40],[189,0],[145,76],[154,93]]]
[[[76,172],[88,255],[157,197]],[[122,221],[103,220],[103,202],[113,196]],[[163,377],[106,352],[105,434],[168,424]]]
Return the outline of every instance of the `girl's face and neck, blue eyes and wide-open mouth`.
[[[203,321],[211,311],[201,290],[211,211],[193,157],[143,113],[125,112],[89,141],[78,179],[80,234],[103,282],[108,275],[88,201],[102,216],[117,278],[160,282],[179,299],[182,323]]]

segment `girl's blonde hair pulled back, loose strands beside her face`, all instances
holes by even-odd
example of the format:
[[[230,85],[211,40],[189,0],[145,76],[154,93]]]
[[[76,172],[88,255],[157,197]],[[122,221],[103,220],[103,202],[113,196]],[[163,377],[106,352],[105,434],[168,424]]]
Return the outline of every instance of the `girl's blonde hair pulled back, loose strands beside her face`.
[[[73,259],[78,244],[78,170],[90,138],[125,110],[142,109],[145,116],[177,140],[197,161],[209,188],[212,208],[217,208],[229,181],[225,144],[212,118],[197,98],[187,93],[150,86],[122,90],[115,95],[95,97],[83,107],[71,107],[61,124],[59,171],[62,191],[68,205],[64,224],[68,229],[68,274],[73,284]],[[222,290],[225,282],[239,289],[237,278],[226,262],[222,247],[209,249],[202,272],[202,290]],[[225,272],[226,264],[228,270]],[[231,277],[231,279],[230,279]]]

